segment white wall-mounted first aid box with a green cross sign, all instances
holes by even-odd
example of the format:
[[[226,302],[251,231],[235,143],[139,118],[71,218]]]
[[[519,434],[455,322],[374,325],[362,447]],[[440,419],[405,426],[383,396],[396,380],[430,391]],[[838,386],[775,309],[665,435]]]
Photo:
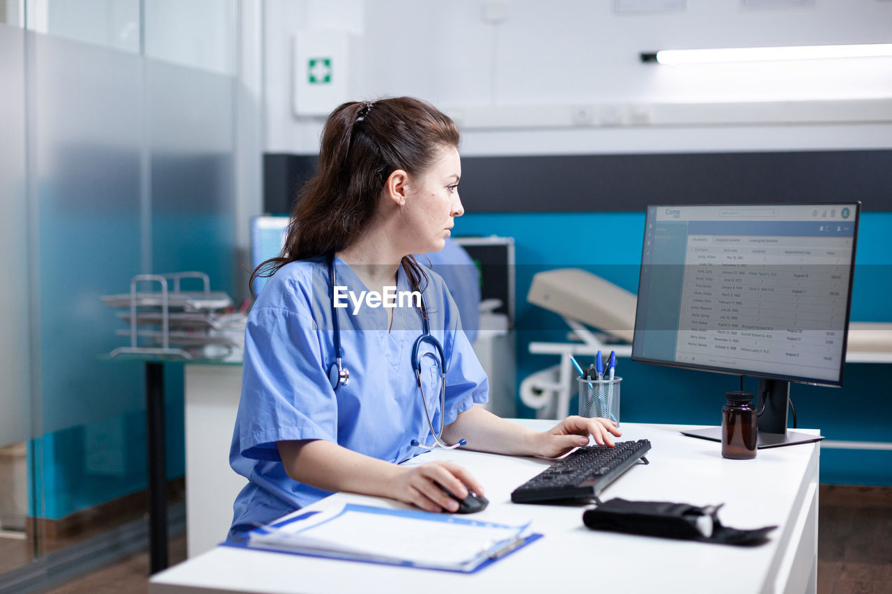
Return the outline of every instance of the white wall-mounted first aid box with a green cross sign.
[[[326,116],[355,98],[351,34],[307,29],[294,37],[293,109],[297,116]]]

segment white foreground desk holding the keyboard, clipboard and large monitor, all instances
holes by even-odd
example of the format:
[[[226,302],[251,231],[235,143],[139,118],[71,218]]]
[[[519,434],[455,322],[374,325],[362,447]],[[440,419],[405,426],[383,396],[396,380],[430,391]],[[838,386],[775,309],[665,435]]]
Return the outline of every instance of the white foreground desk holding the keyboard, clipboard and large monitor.
[[[538,420],[518,423],[541,429],[552,425]],[[582,507],[510,503],[510,492],[541,472],[548,464],[545,460],[436,450],[413,462],[435,457],[466,466],[483,483],[491,501],[477,517],[533,519],[534,529],[544,538],[471,575],[218,547],[156,573],[149,591],[815,591],[818,443],[760,450],[754,460],[726,460],[718,443],[684,437],[678,433],[679,425],[624,424],[622,429],[623,439],[651,441],[650,465],[632,467],[604,491],[602,499],[724,502],[720,512],[724,524],[780,528],[756,548],[593,532],[582,525]],[[343,501],[401,505],[339,493],[313,507]]]

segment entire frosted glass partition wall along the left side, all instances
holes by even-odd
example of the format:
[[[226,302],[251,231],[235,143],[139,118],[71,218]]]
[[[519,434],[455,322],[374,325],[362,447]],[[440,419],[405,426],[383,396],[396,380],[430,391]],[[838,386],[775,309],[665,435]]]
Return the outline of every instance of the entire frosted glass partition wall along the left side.
[[[233,291],[234,5],[0,0],[0,590],[145,547],[145,372],[102,359],[127,339],[101,297],[182,270]]]

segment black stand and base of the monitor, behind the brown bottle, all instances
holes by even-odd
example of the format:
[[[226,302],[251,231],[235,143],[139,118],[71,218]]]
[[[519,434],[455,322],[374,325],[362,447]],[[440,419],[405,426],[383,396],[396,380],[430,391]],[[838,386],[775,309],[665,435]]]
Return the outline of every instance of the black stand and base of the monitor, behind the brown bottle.
[[[780,448],[821,441],[822,435],[810,435],[787,431],[787,402],[789,400],[789,382],[782,380],[759,380],[759,392],[756,399],[756,410],[761,410],[756,421],[756,448]],[[722,427],[704,427],[682,431],[681,434],[703,440],[722,441]]]

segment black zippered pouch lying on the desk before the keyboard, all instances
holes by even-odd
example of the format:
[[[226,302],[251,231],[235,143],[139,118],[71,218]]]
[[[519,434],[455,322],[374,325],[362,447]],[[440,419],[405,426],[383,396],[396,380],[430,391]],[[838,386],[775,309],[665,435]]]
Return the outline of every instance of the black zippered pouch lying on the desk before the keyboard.
[[[768,533],[777,528],[764,526],[739,530],[725,526],[718,518],[722,505],[699,507],[689,503],[616,498],[586,509],[582,513],[582,522],[592,530],[739,546],[762,544],[768,540]]]

